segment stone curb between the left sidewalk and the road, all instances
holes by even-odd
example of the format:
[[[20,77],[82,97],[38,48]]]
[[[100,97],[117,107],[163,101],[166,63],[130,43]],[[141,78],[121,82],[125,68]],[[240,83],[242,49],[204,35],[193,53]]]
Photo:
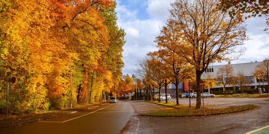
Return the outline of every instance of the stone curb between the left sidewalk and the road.
[[[105,104],[102,104],[102,105],[105,105]],[[99,105],[99,106],[102,106],[102,105]],[[99,106],[94,106],[94,107],[99,107]],[[18,124],[26,124],[26,123],[40,121],[40,120],[44,120],[44,119],[49,119],[49,118],[62,116],[62,115],[66,115],[66,114],[76,113],[76,112],[83,111],[83,110],[90,109],[90,108],[94,108],[94,107],[89,107],[89,108],[85,108],[85,109],[81,109],[81,110],[77,110],[77,111],[73,111],[73,112],[69,112],[69,113],[63,113],[63,114],[59,114],[59,115],[44,117],[44,118],[40,118],[40,119],[33,119],[33,120],[30,120],[30,121],[18,122],[18,123],[14,123],[14,124],[11,124],[11,125],[0,126],[0,128],[11,127],[11,126],[16,126]]]

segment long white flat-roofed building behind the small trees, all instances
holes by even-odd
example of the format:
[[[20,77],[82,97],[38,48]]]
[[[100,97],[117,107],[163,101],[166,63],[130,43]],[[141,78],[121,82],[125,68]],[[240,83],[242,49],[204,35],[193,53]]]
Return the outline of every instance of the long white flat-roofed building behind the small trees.
[[[253,89],[256,89],[256,88],[259,88],[260,87],[265,87],[265,85],[267,86],[267,79],[262,81],[261,79],[255,79],[253,78],[253,75],[252,75],[252,72],[254,71],[254,69],[256,68],[256,66],[258,64],[260,64],[261,62],[251,62],[251,63],[239,63],[239,64],[230,64],[231,66],[233,66],[233,70],[234,70],[234,73],[236,74],[238,71],[243,71],[244,74],[246,74],[246,76],[250,79],[250,81],[252,82],[251,83],[251,88]],[[213,75],[214,77],[216,77],[216,73],[218,71],[218,68],[221,68],[225,65],[218,65],[218,66],[208,66],[207,70],[201,75],[201,79],[203,79],[206,74],[211,74]],[[232,86],[233,85],[226,85],[226,90],[227,89],[232,89]],[[216,85],[213,87],[213,91],[221,91],[221,88],[222,90],[224,91],[224,88],[223,86],[219,86],[219,85]]]

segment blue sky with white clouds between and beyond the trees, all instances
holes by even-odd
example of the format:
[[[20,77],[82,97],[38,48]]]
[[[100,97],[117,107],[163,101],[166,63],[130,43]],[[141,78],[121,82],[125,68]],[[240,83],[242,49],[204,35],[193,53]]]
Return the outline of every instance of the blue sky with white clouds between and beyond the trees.
[[[159,28],[166,23],[169,16],[168,9],[174,0],[116,0],[117,24],[126,32],[126,44],[123,46],[123,74],[135,74],[135,63],[146,56],[148,52],[157,50],[155,37]],[[265,17],[250,18],[247,20],[247,35],[251,38],[245,42],[246,52],[234,63],[262,61],[269,58],[269,34],[263,29],[266,27]],[[214,63],[213,65],[224,65]]]

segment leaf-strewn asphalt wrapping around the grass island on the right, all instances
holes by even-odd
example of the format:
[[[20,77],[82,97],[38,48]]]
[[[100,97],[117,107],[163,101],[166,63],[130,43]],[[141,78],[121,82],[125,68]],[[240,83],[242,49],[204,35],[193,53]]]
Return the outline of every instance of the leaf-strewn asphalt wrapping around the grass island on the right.
[[[189,104],[189,98],[180,98],[180,103]],[[171,101],[175,101],[172,99]],[[269,99],[262,98],[205,98],[207,104],[217,106],[254,104],[259,109],[241,113],[203,117],[148,117],[139,116],[138,133],[247,133],[269,125]],[[196,98],[191,99],[196,103]],[[268,132],[269,133],[269,132]]]

